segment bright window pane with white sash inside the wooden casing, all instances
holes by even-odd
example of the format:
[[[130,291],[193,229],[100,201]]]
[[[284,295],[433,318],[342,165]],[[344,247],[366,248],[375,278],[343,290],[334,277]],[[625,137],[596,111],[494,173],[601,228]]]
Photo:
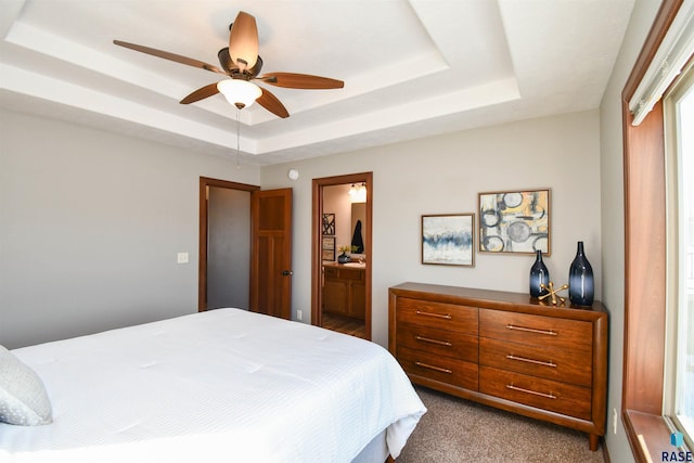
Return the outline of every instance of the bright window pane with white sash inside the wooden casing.
[[[668,304],[664,413],[694,438],[694,70],[664,100],[668,208]],[[685,128],[689,128],[685,129]]]

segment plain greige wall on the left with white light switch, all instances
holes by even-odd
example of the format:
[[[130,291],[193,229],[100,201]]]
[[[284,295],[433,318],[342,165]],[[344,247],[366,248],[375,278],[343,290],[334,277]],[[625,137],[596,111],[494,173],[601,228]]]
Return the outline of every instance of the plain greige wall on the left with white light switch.
[[[0,144],[10,348],[196,311],[198,178],[260,183],[233,160],[2,110]]]

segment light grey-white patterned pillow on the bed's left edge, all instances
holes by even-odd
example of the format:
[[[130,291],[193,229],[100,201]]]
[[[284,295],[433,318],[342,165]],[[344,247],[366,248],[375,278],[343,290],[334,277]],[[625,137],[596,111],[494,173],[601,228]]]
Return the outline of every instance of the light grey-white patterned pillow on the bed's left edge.
[[[53,422],[43,382],[8,349],[0,346],[0,422],[36,426]]]

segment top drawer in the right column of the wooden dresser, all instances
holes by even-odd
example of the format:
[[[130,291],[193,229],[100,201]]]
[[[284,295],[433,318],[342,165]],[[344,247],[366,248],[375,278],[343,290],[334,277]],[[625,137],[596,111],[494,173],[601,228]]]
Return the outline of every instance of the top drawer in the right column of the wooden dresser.
[[[580,320],[481,309],[479,336],[590,352],[593,326]]]

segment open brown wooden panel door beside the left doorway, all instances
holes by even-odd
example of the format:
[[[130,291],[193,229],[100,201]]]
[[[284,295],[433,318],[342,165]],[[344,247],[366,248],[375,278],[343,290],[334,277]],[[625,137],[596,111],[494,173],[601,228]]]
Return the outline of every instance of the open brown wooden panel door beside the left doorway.
[[[250,194],[250,310],[292,318],[292,189]]]

